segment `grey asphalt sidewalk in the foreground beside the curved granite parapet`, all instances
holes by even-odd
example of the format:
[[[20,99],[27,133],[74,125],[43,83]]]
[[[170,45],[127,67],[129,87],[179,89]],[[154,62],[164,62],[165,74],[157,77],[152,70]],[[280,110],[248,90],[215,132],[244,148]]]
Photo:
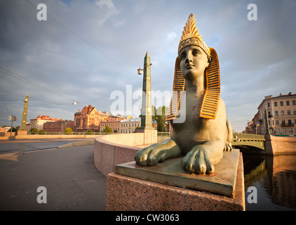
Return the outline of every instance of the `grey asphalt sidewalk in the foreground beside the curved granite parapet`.
[[[0,210],[105,210],[106,177],[93,146],[0,155]],[[37,203],[37,188],[47,203]]]

